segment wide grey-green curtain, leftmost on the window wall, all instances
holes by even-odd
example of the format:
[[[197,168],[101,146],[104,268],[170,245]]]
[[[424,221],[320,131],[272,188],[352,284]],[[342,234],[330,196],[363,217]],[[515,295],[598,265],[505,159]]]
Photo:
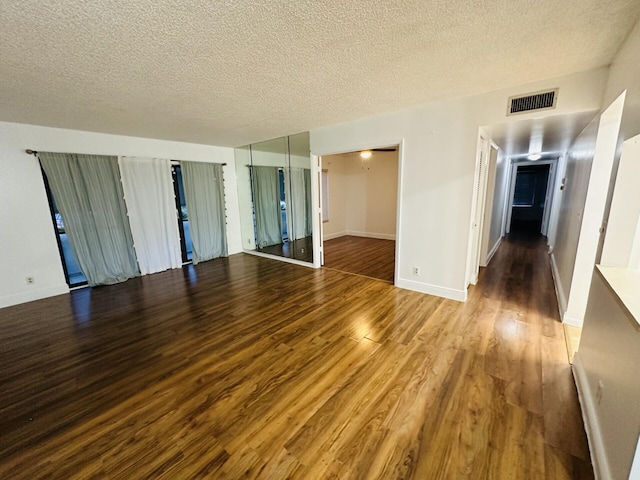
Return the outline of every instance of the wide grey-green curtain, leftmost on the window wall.
[[[139,275],[118,159],[47,152],[38,156],[87,283],[109,285]]]

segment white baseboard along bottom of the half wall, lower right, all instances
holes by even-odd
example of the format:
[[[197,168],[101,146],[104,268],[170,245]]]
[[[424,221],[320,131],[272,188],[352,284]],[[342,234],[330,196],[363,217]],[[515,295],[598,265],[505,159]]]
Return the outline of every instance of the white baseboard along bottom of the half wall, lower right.
[[[607,451],[604,448],[604,439],[600,431],[598,417],[596,415],[596,404],[594,396],[589,387],[589,379],[582,366],[580,352],[576,352],[573,357],[573,378],[578,390],[578,400],[582,410],[582,420],[584,421],[587,439],[589,440],[589,453],[596,479],[610,479],[611,470],[607,459]]]

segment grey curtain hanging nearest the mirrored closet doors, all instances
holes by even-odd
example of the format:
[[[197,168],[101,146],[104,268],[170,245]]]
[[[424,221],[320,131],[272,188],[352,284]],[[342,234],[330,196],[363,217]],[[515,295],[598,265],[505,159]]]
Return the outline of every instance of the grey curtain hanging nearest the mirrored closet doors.
[[[219,163],[180,162],[193,264],[227,256],[224,178]]]

